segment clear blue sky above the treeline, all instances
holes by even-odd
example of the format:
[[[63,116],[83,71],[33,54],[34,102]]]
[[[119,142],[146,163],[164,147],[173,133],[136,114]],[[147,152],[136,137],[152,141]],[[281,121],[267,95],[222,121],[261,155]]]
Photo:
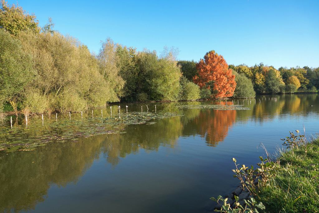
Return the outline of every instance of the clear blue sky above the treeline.
[[[17,1],[8,0],[9,4]],[[43,26],[98,52],[100,41],[198,61],[214,49],[228,64],[319,66],[319,0],[81,1],[19,0]]]

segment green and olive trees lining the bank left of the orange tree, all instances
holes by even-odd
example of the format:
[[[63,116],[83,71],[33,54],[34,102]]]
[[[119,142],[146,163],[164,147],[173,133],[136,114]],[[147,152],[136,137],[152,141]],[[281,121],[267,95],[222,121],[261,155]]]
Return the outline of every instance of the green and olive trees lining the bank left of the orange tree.
[[[136,51],[107,39],[97,55],[70,36],[44,27],[21,7],[1,2],[1,110],[81,111],[118,101],[199,98],[182,77],[173,51]]]

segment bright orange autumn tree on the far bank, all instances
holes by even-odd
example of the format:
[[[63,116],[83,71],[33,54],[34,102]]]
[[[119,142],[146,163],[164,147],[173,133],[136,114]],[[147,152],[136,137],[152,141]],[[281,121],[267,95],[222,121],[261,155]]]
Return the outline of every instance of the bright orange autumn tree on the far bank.
[[[232,69],[228,68],[223,56],[218,55],[214,50],[209,51],[197,65],[197,75],[193,81],[200,88],[211,89],[215,98],[225,98],[234,95],[236,88],[235,75]]]

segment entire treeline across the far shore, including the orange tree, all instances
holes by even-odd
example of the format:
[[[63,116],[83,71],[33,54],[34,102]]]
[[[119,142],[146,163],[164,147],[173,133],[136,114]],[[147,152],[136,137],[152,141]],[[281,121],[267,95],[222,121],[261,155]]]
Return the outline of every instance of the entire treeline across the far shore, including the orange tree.
[[[91,54],[53,30],[51,19],[40,27],[21,7],[4,0],[0,6],[0,112],[50,114],[119,101],[242,98],[319,87],[318,68],[228,66],[214,51],[198,63],[177,61],[174,49],[158,56],[107,39]]]

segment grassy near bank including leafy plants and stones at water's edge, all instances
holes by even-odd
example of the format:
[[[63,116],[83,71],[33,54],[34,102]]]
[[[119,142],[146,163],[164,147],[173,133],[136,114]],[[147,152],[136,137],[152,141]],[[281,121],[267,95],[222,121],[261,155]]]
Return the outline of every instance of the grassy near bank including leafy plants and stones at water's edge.
[[[244,190],[238,196],[233,192],[233,197],[219,197],[215,211],[319,212],[319,138],[306,142],[297,130],[284,141],[287,150],[275,160],[261,158],[257,168],[240,166],[233,159],[234,177]],[[243,194],[251,196],[242,199]]]

